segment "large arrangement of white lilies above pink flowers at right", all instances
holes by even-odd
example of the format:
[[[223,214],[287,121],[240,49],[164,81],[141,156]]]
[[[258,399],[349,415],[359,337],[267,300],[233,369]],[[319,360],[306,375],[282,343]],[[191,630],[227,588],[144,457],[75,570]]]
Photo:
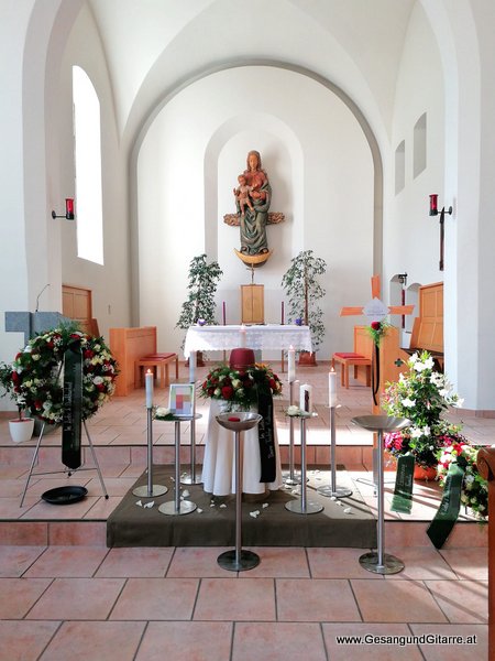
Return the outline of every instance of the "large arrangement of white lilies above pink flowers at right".
[[[454,442],[465,441],[460,426],[442,418],[450,407],[462,405],[447,377],[433,369],[428,351],[414,354],[407,361],[408,373],[388,383],[382,408],[388,415],[407,418],[411,424],[400,432],[385,434],[386,449],[393,456],[411,454],[416,464],[436,467],[438,452]]]

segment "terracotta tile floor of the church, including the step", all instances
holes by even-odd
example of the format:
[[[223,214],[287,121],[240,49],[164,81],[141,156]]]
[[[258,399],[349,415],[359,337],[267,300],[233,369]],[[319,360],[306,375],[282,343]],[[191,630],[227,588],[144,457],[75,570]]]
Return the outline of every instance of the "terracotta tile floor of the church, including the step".
[[[329,443],[327,372],[322,365],[298,375],[315,388],[319,419],[308,442],[322,451]],[[157,393],[156,403],[166,404],[166,391]],[[370,434],[350,422],[370,412],[370,391],[353,383],[339,394],[338,445],[353,446],[346,464],[351,475],[370,477],[370,466],[360,460],[369,456],[363,448],[370,448]],[[288,438],[284,405],[277,403],[282,445]],[[492,442],[495,421],[466,422],[470,438]],[[196,434],[199,445],[205,425],[204,418]],[[15,447],[19,460],[13,460],[7,424],[0,422],[0,454],[10,453],[1,455],[0,523],[21,519],[32,531],[2,532],[11,545],[0,538],[0,661],[487,659],[486,535],[465,521],[444,549],[431,546],[425,521],[439,503],[435,483],[415,484],[413,512],[400,517],[389,512],[393,484],[386,485],[387,552],[405,562],[400,574],[366,572],[359,563],[361,549],[321,548],[257,548],[260,565],[237,574],[219,567],[220,548],[107,549],[101,527],[145,466],[142,391],[103,408],[91,421],[90,434],[97,452],[117,453],[98,455],[109,501],[101,497],[96,473],[88,472],[78,477],[89,489],[78,506],[54,513],[40,501],[43,491],[64,483],[52,475],[33,478],[21,509],[32,448]],[[156,445],[172,443],[168,431],[156,429]],[[57,444],[54,433],[46,447]],[[361,490],[376,509],[372,487]],[[43,532],[47,520],[50,539]],[[70,532],[68,520],[92,523],[84,533]],[[344,644],[341,636],[361,637],[362,642],[354,638]],[[465,642],[439,643],[450,636]]]

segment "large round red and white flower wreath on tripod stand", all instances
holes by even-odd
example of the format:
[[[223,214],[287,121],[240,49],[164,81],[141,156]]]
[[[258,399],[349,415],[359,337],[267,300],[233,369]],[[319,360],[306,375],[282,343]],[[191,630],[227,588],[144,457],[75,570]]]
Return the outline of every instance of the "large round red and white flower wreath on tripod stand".
[[[117,361],[101,337],[72,327],[30,339],[11,365],[12,391],[32,415],[50,424],[63,420],[62,368],[68,348],[82,351],[82,420],[94,415],[116,389]]]

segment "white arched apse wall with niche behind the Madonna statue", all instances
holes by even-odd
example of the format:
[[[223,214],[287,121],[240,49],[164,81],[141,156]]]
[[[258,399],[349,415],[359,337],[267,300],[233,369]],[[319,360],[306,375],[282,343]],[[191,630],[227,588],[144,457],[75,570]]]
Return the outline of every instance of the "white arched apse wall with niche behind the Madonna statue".
[[[323,281],[327,335],[320,358],[349,349],[354,319],[342,305],[370,299],[373,172],[370,149],[349,109],[315,80],[272,67],[242,67],[204,78],[158,113],[138,163],[140,323],[156,324],[161,348],[178,349],[174,329],[186,299],[193,257],[208,247],[223,270],[219,286],[228,322],[240,321],[240,284],[250,272],[234,256],[239,230],[232,188],[250,149],[261,152],[273,187],[271,260],[256,270],[265,286],[265,321],[279,323],[280,281],[290,258],[312,249],[328,263]],[[216,237],[212,240],[211,237]]]

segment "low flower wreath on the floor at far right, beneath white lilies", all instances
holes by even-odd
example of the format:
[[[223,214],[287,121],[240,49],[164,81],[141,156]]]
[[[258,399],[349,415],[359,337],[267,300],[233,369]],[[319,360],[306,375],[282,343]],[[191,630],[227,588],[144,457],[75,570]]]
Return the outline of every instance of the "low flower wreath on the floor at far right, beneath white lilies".
[[[469,443],[454,443],[444,447],[438,464],[440,486],[446,485],[449,466],[457,462],[464,467],[464,477],[461,486],[461,502],[469,507],[479,519],[488,516],[488,483],[477,470],[479,448]]]

